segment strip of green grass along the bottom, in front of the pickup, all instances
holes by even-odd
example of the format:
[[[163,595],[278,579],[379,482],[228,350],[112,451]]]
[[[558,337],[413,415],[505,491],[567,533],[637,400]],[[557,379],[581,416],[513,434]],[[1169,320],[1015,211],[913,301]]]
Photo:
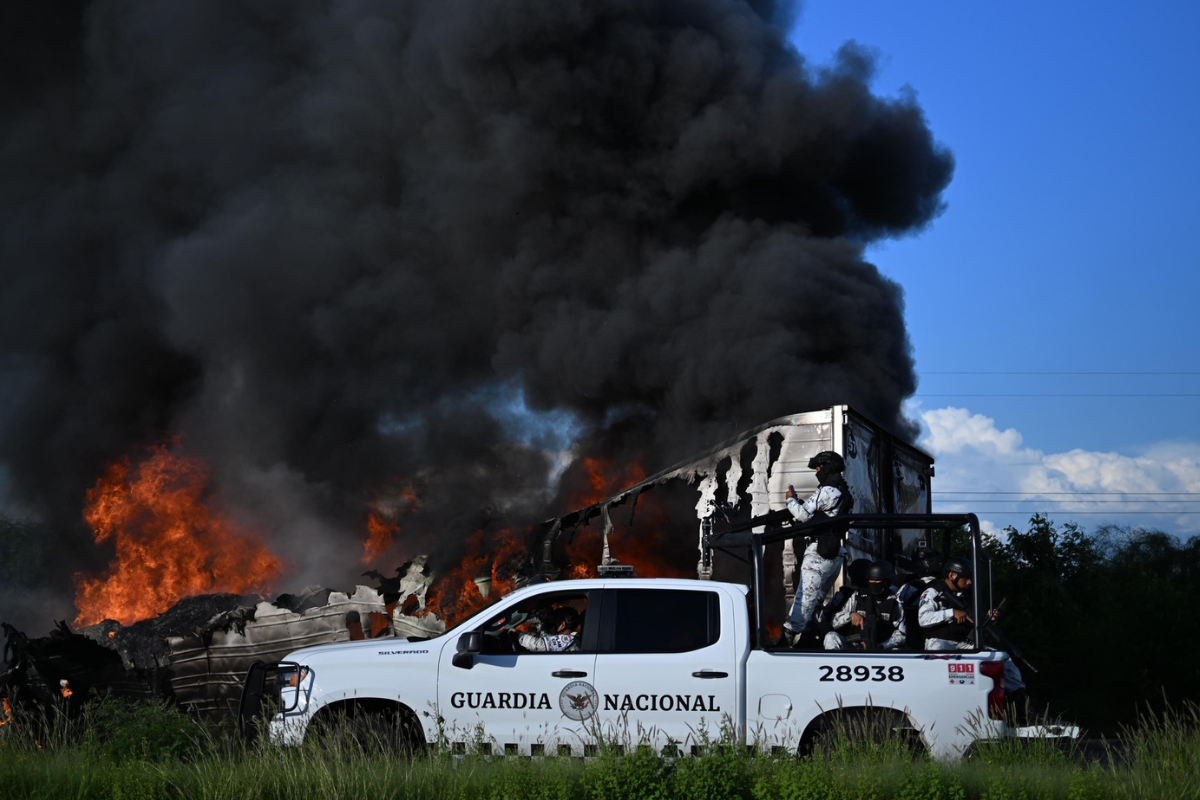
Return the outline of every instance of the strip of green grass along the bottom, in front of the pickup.
[[[1046,742],[1002,742],[942,764],[908,742],[853,732],[811,757],[748,753],[720,739],[690,758],[601,747],[589,759],[364,753],[350,741],[246,747],[162,704],[102,700],[76,721],[0,728],[0,796],[12,800],[824,800],[1200,798],[1200,710],[1147,716],[1093,762]]]

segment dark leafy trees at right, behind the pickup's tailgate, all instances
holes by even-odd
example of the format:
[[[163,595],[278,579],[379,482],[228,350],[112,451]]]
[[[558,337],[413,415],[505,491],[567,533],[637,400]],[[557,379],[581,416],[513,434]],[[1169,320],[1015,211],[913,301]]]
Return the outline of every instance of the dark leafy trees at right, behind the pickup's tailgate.
[[[1030,696],[1093,732],[1200,698],[1200,539],[1037,515],[989,537],[1002,624],[1038,668]],[[1164,699],[1165,698],[1165,699]]]

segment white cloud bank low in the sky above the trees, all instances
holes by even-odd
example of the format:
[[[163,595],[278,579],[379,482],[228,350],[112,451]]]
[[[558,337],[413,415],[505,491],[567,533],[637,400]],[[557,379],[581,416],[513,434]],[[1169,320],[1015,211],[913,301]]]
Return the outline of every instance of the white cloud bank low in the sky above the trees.
[[[907,410],[922,426],[917,444],[937,463],[936,511],[973,511],[991,531],[1022,529],[1034,513],[1088,530],[1116,524],[1189,535],[1200,527],[1200,444],[1046,453],[983,414],[919,403]]]

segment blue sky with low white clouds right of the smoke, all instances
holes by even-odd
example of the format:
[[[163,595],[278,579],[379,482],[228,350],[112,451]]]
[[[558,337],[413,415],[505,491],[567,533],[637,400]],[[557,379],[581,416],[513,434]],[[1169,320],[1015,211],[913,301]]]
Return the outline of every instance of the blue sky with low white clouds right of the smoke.
[[[906,291],[935,507],[1200,529],[1198,8],[804,4],[800,53],[872,48],[956,158],[946,212],[869,251]]]

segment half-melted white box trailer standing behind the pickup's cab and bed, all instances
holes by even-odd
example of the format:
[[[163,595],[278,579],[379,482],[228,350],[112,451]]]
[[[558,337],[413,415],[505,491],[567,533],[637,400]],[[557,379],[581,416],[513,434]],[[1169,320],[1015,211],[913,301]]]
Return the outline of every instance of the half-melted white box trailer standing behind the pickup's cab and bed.
[[[571,511],[545,524],[541,535],[541,573],[563,576],[563,551],[580,530],[599,523],[598,577],[632,575],[618,558],[632,546],[638,500],[662,487],[690,487],[694,506],[695,577],[712,579],[718,567],[721,534],[730,528],[762,531],[791,523],[785,494],[788,485],[806,497],[817,488],[809,459],[833,451],[846,462],[846,482],[854,498],[854,513],[928,515],[932,510],[934,458],[904,441],[848,405],[781,416],[728,439],[706,453],[625,487],[598,503]],[[624,511],[624,513],[618,513]],[[622,524],[624,523],[624,524]],[[920,546],[923,533],[912,530],[851,530],[846,539],[850,559],[888,559],[905,564]],[[850,560],[847,559],[847,560]],[[778,584],[787,601],[794,593],[799,559],[792,542],[784,546],[775,565]],[[743,567],[730,579],[745,581]],[[582,577],[582,576],[581,576]],[[647,576],[652,577],[652,576]],[[653,576],[658,577],[658,576]],[[685,577],[678,575],[674,577]]]

